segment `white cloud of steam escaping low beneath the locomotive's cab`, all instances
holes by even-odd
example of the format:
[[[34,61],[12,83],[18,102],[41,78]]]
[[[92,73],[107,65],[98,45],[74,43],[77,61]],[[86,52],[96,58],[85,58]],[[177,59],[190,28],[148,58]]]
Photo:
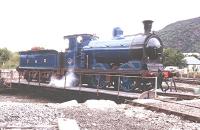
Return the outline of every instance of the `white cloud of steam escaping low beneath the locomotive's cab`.
[[[65,78],[66,77],[66,78]],[[66,82],[65,82],[66,79]],[[61,79],[58,79],[56,76],[52,76],[49,82],[49,86],[55,86],[58,88],[74,87],[78,82],[77,77],[74,74],[73,69],[68,70],[68,72]]]

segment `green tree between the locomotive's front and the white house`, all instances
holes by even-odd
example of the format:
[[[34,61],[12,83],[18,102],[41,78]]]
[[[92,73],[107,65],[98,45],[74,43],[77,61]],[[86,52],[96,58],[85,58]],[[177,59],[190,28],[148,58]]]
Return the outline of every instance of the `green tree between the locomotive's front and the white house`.
[[[180,68],[186,66],[184,55],[174,48],[164,49],[164,66],[178,66]]]

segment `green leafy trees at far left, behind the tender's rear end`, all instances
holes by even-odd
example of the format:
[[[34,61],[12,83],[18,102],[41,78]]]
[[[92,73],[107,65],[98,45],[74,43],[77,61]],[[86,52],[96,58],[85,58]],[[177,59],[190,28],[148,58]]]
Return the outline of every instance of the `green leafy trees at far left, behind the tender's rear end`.
[[[7,48],[0,48],[0,68],[11,69],[16,68],[19,64],[19,54],[13,53]]]

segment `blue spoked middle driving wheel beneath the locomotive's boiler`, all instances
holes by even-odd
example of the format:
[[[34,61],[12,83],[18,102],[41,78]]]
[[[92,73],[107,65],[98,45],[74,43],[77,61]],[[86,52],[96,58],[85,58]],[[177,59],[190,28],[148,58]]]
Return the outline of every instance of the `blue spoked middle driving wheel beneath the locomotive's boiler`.
[[[133,78],[121,77],[120,78],[121,89],[126,92],[133,91],[136,88]]]

